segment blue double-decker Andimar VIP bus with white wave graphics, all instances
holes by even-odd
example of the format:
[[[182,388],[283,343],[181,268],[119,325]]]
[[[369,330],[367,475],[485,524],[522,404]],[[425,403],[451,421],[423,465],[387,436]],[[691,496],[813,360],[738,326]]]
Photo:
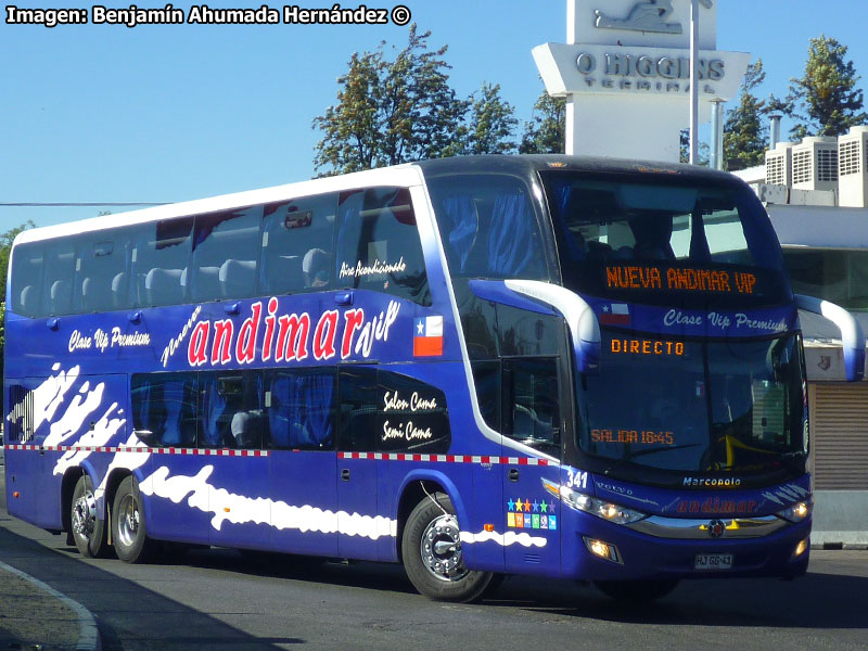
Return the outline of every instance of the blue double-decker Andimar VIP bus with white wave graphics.
[[[793,577],[812,488],[768,218],[706,169],[427,161],[25,231],[10,513],[127,562],[173,544],[653,599]]]

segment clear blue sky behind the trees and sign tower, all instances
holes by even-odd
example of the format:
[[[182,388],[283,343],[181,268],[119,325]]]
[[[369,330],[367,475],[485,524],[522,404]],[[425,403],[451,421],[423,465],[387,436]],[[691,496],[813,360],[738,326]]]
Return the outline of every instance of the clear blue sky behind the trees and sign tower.
[[[419,29],[431,30],[430,47],[448,44],[457,93],[499,84],[521,124],[544,90],[531,50],[566,39],[565,0],[366,2],[388,10],[403,2]],[[604,8],[605,0],[597,4]],[[783,97],[790,78],[804,72],[809,39],[825,34],[850,48],[863,76],[858,87],[868,88],[866,24],[865,0],[718,0],[717,49],[761,58],[766,81],[756,94]],[[320,138],[311,124],[335,103],[337,77],[352,54],[381,41],[400,49],[407,30],[395,24],[49,29],[0,21],[0,204],[178,202],[311,178]],[[0,205],[0,232],[28,219],[49,226],[127,209]]]

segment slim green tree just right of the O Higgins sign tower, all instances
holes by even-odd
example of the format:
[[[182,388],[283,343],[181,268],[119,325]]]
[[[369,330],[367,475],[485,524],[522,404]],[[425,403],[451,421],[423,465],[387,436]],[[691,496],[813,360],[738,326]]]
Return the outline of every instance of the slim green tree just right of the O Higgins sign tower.
[[[727,111],[724,123],[724,159],[729,169],[744,169],[761,165],[768,144],[768,113],[765,101],[758,100],[753,90],[766,78],[763,60],[748,66],[741,82],[738,106]]]

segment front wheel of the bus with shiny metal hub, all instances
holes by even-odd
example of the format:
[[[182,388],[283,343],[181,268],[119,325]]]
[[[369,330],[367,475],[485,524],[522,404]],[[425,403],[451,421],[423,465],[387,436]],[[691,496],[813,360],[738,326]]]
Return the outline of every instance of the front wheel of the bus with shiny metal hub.
[[[492,584],[490,572],[464,566],[460,534],[455,508],[444,493],[425,497],[407,519],[401,537],[404,569],[416,589],[429,599],[476,601]]]

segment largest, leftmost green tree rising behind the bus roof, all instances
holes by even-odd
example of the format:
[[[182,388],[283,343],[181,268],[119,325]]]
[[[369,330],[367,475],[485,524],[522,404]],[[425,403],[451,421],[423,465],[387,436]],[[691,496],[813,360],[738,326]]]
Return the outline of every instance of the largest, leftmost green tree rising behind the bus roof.
[[[430,31],[410,25],[407,46],[390,61],[385,43],[354,54],[337,79],[337,104],[314,118],[323,137],[314,166],[345,174],[454,153],[468,102],[449,87],[447,46],[427,49]]]

